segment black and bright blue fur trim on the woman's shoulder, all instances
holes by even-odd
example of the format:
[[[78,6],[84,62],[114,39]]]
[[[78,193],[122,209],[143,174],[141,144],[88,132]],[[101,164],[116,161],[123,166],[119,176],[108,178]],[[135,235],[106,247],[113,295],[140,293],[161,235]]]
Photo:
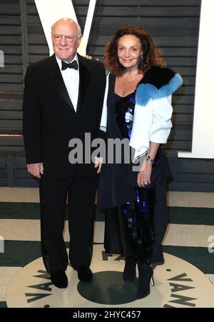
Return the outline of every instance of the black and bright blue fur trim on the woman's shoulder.
[[[182,85],[179,74],[171,69],[155,66],[149,69],[136,91],[136,104],[145,106],[150,99],[161,99],[170,96]]]

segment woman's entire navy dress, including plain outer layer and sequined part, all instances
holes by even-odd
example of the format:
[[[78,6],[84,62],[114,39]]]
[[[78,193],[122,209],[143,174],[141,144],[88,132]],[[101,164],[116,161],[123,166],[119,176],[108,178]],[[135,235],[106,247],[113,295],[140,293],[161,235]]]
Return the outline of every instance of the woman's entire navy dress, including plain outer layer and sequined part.
[[[130,139],[135,94],[133,92],[126,97],[114,94],[114,79],[111,79],[106,131],[108,139]],[[98,187],[98,208],[106,209],[104,248],[106,253],[163,263],[161,241],[168,215],[162,146],[156,154],[150,187],[139,188],[137,175],[138,172],[132,171],[131,163],[103,164]]]

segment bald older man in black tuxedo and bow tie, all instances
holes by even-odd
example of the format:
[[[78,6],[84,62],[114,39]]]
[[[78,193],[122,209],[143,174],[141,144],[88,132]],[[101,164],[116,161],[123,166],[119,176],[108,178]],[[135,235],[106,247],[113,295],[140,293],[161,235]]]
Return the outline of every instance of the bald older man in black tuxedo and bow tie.
[[[68,197],[69,260],[83,282],[92,279],[93,204],[99,164],[71,164],[71,139],[99,137],[106,86],[103,64],[76,54],[81,29],[60,19],[51,29],[54,55],[28,67],[24,89],[24,144],[28,171],[40,179],[41,250],[51,281],[66,288],[63,241]],[[72,64],[71,64],[72,63]],[[97,170],[97,168],[98,170]]]

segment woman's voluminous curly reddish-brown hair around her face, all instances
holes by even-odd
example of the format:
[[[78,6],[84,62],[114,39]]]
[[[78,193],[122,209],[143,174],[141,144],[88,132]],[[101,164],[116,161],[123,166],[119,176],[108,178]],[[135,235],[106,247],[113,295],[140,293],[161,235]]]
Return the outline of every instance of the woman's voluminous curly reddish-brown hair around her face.
[[[113,75],[121,75],[126,70],[118,59],[118,40],[124,35],[136,36],[141,41],[144,58],[143,62],[138,63],[138,70],[145,73],[151,66],[166,66],[165,60],[161,57],[160,51],[146,29],[137,26],[125,26],[116,31],[106,45],[105,66]]]

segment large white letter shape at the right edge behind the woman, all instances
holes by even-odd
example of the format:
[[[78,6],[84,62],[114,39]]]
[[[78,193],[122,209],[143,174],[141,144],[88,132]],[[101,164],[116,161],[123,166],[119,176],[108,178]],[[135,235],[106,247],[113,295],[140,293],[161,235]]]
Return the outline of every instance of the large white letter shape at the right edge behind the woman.
[[[214,1],[202,0],[195,82],[192,152],[180,158],[214,159]]]

